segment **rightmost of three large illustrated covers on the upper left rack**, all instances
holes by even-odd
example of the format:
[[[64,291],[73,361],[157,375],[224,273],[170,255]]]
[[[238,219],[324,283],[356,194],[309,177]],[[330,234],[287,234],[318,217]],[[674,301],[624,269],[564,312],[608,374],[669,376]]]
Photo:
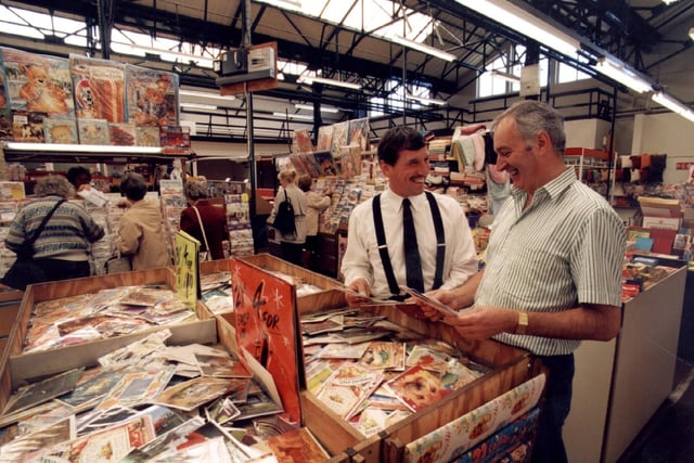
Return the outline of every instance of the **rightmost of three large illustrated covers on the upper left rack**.
[[[126,65],[128,121],[137,126],[178,125],[178,75]]]

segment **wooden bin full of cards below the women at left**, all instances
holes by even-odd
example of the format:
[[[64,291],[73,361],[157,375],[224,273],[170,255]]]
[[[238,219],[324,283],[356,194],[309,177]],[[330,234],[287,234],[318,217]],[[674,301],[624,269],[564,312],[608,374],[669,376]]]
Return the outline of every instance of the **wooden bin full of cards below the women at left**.
[[[200,301],[181,307],[175,282],[162,268],[29,285],[2,358],[0,409],[28,380],[94,364],[164,327],[172,344],[216,342],[213,316]]]

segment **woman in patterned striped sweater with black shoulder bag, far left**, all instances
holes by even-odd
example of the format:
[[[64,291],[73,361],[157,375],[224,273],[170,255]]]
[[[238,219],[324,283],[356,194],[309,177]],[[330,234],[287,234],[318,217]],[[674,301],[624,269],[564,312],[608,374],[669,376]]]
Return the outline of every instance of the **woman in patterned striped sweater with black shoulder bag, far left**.
[[[10,224],[4,244],[12,252],[20,250],[22,243],[35,234],[43,217],[59,201],[72,197],[75,189],[65,177],[51,175],[37,180],[34,194],[37,198],[27,203]],[[104,229],[82,206],[67,201],[62,203],[34,242],[34,260],[42,267],[44,281],[89,276],[89,244],[103,235]]]

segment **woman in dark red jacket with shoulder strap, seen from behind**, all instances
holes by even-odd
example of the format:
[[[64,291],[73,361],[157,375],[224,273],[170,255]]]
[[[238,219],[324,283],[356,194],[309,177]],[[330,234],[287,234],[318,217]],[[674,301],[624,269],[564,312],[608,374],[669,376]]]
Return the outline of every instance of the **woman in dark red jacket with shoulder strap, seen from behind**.
[[[201,242],[201,250],[209,252],[211,260],[223,259],[224,242],[229,245],[229,228],[223,205],[216,206],[208,200],[204,177],[190,178],[185,194],[191,204],[181,211],[180,228]],[[209,244],[209,249],[205,243]]]

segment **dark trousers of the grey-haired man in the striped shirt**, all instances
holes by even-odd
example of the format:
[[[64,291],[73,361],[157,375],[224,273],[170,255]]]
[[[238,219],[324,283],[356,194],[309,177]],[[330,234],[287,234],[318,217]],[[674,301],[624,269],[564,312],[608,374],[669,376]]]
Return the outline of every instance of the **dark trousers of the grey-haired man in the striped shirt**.
[[[540,412],[538,434],[532,446],[532,463],[567,462],[562,428],[571,408],[574,355],[540,357],[549,369],[544,407]]]

